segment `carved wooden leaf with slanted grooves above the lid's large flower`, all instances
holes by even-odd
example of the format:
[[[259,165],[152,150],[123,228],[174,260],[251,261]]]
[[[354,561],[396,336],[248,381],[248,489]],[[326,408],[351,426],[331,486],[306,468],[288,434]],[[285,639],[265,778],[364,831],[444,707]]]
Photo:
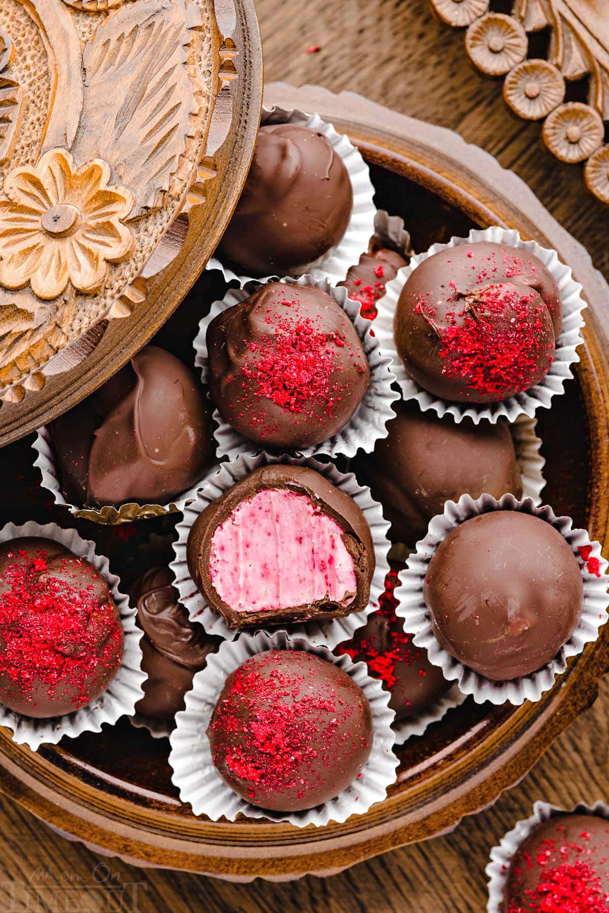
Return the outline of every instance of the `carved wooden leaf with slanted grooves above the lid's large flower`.
[[[200,12],[184,0],[123,6],[83,52],[77,162],[101,158],[135,197],[131,215],[162,205],[196,107],[184,66]]]

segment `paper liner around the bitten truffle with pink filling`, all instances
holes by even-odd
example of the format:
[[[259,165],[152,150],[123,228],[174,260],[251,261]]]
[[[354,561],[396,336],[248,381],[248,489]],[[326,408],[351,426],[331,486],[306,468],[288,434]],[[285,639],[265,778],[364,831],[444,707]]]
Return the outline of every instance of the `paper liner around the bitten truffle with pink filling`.
[[[317,470],[332,485],[335,485],[336,488],[341,488],[342,491],[353,498],[355,503],[362,509],[363,516],[370,527],[376,567],[370,586],[370,601],[362,612],[352,612],[350,615],[332,618],[330,621],[325,622],[311,620],[288,625],[286,623],[278,625],[260,624],[260,628],[263,631],[275,633],[286,630],[290,636],[299,635],[305,637],[311,646],[321,645],[333,649],[337,644],[341,644],[343,640],[350,640],[355,631],[366,623],[367,616],[378,608],[379,598],[384,592],[384,579],[389,571],[389,562],[387,561],[387,553],[389,551],[387,530],[389,530],[389,524],[383,518],[381,505],[371,497],[370,488],[359,485],[352,473],[345,475],[329,463],[320,463],[317,460],[304,457],[275,457],[268,456],[268,454],[237,456],[230,463],[223,463],[214,476],[207,478],[203,488],[197,492],[193,503],[184,509],[184,519],[176,527],[178,539],[173,542],[175,558],[170,564],[175,578],[173,586],[180,593],[180,600],[192,620],[203,624],[208,634],[219,635],[226,640],[235,639],[236,635],[239,634],[239,629],[228,627],[222,615],[212,612],[205,602],[203,593],[199,593],[197,590],[188,570],[186,542],[194,520],[208,504],[211,504],[216,498],[220,498],[228,488],[232,488],[236,482],[249,476],[255,469],[260,466],[267,466],[269,463],[287,463],[290,466],[307,466]],[[249,627],[247,630],[252,632],[256,628]]]

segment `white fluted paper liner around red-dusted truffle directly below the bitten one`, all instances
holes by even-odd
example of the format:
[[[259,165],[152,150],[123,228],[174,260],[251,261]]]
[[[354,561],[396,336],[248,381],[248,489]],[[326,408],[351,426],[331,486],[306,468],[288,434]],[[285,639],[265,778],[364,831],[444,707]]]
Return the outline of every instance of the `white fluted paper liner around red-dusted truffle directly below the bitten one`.
[[[218,776],[207,740],[207,724],[226,678],[250,656],[268,650],[303,650],[340,666],[362,688],[373,711],[373,747],[361,776],[336,798],[302,812],[269,812],[247,803]],[[364,663],[353,663],[349,656],[332,656],[326,648],[312,646],[303,637],[291,637],[285,632],[242,634],[237,640],[220,645],[218,652],[209,657],[205,669],[194,676],[193,690],[186,695],[186,708],[176,714],[176,728],[170,736],[172,781],[180,791],[182,802],[190,803],[194,814],[205,814],[212,821],[222,817],[235,821],[238,814],[245,814],[248,818],[268,818],[297,827],[320,826],[331,821],[341,824],[350,815],[363,814],[374,803],[382,802],[387,787],[395,780],[398,760],[392,750],[393,719],[389,694],[379,681],[368,675]]]

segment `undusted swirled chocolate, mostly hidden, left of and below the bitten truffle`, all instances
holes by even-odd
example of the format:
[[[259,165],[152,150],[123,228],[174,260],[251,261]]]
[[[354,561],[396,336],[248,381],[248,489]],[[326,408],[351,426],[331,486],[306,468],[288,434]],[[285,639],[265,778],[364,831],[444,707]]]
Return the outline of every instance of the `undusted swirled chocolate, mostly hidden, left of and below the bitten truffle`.
[[[152,568],[131,588],[131,604],[137,606],[143,631],[142,669],[147,676],[144,696],[135,709],[168,721],[184,709],[194,673],[205,668],[207,656],[221,643],[219,637],[205,634],[202,624],[190,621],[172,580],[169,568]]]

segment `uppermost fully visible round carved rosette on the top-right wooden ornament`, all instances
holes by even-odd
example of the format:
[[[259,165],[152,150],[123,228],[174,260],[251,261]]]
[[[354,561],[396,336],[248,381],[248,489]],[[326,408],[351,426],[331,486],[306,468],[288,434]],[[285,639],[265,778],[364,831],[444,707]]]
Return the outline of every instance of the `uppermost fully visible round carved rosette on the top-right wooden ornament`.
[[[503,13],[488,13],[472,22],[466,32],[467,54],[488,76],[503,76],[527,56],[529,39],[524,28]]]

